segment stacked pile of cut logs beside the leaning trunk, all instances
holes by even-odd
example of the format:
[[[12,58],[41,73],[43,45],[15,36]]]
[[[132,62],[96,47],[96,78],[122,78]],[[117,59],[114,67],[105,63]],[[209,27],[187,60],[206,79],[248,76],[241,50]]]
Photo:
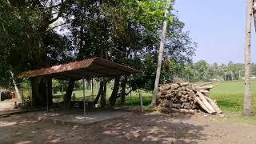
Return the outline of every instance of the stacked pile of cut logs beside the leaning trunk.
[[[194,114],[202,110],[208,114],[221,114],[222,110],[209,97],[213,86],[197,86],[184,83],[168,83],[160,86],[158,99],[161,100],[159,110],[163,113],[181,112]]]

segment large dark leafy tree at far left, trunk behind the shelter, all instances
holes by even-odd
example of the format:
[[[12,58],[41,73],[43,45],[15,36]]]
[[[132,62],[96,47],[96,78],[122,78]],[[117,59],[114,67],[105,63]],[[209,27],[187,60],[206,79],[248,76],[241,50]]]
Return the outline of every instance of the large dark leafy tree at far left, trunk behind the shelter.
[[[57,34],[51,25],[62,16],[70,2],[1,1],[0,54],[3,58],[0,60],[0,82],[3,86],[10,87],[9,71],[18,74],[24,70],[66,62],[72,45],[68,38]],[[45,79],[47,82],[40,78],[30,80],[33,90],[42,91],[41,96],[33,92],[33,104],[46,106],[46,90],[51,97],[51,89],[46,86],[51,86],[51,79]]]

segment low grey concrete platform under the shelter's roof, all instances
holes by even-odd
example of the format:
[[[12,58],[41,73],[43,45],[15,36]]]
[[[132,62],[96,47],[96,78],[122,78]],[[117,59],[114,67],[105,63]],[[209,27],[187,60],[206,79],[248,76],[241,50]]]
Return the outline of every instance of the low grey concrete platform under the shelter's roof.
[[[101,122],[107,119],[122,117],[130,114],[126,110],[101,110],[93,109],[86,111],[86,119],[83,116],[83,110],[71,109],[53,111],[47,113],[46,111],[38,111],[26,114],[30,118],[36,118],[38,120],[54,122],[55,124],[62,125],[92,125],[96,122]]]

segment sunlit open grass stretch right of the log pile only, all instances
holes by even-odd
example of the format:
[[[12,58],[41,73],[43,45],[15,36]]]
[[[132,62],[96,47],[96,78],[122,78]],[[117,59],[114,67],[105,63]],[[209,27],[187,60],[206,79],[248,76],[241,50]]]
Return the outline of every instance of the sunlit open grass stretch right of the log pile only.
[[[217,119],[222,122],[249,123],[256,124],[256,116],[246,117],[242,115],[244,99],[244,82],[218,82],[214,89],[210,91],[210,97],[218,102],[218,106],[225,114],[224,118]],[[251,81],[251,97],[253,102],[253,112],[256,114],[256,81]]]

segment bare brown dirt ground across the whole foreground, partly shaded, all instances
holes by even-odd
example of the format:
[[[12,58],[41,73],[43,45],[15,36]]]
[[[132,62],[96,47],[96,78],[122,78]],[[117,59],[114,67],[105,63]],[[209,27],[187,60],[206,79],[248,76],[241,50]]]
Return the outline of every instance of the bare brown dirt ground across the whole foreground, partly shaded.
[[[254,143],[256,126],[201,115],[130,114],[94,126],[0,118],[0,143]]]

